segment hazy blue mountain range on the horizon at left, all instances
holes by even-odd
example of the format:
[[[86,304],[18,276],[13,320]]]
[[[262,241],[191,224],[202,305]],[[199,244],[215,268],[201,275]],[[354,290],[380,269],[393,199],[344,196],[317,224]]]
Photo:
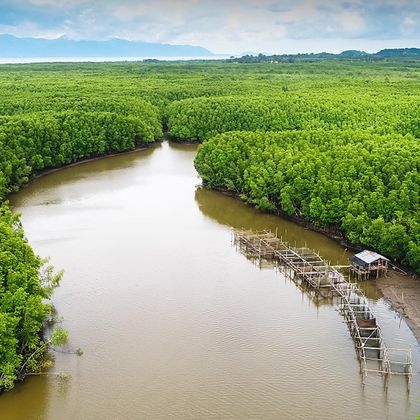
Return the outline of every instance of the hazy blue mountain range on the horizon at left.
[[[0,35],[0,57],[209,57],[209,50],[193,45],[170,45],[110,39],[108,41],[74,41],[17,38]]]

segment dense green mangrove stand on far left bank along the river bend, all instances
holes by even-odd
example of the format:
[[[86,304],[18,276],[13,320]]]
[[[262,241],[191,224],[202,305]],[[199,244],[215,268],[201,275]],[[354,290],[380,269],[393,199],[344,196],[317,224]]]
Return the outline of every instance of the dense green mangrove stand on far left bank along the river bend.
[[[160,136],[160,125],[114,112],[50,111],[0,117],[0,194],[16,190],[34,172],[131,150]]]

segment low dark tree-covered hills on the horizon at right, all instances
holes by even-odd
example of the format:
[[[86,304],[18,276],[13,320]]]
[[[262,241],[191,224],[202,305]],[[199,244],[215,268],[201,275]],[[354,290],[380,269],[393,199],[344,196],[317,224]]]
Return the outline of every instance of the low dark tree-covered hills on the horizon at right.
[[[239,58],[231,58],[228,61],[238,63],[273,63],[273,62],[296,62],[296,61],[320,61],[320,60],[396,60],[396,59],[420,59],[420,48],[394,48],[385,49],[377,53],[366,53],[358,50],[347,50],[340,54],[332,53],[306,53],[306,54],[274,54],[274,55],[244,55]]]

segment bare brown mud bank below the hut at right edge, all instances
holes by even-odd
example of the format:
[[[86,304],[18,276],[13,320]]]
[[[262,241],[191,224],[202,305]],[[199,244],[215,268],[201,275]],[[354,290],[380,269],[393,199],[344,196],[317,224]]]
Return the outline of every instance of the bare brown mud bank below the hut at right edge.
[[[420,279],[388,271],[376,280],[376,286],[391,306],[400,313],[420,342]]]

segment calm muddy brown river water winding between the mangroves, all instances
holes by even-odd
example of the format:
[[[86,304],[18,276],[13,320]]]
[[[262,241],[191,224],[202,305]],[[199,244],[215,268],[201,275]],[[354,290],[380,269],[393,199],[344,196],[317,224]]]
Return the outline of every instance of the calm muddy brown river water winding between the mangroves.
[[[201,189],[195,146],[63,169],[12,197],[30,243],[65,277],[54,295],[78,357],[0,396],[1,419],[413,419],[420,352],[405,322],[364,285],[389,346],[411,345],[404,378],[362,387],[334,305],[317,304],[231,246],[231,227],[277,229],[333,263],[327,237]],[[54,373],[71,375],[60,381]]]

